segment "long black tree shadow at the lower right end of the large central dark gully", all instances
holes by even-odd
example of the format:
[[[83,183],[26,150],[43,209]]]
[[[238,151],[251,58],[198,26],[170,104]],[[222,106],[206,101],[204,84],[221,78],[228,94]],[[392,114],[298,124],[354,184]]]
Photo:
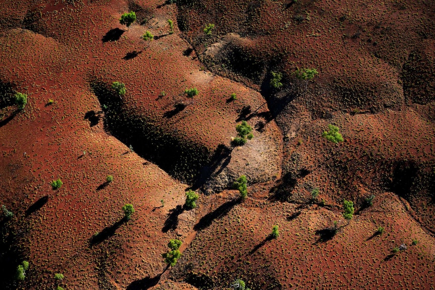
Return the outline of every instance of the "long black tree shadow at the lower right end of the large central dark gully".
[[[233,148],[229,148],[224,144],[217,145],[217,148],[211,157],[211,161],[201,169],[198,179],[192,186],[192,190],[201,188],[211,175],[219,175],[219,173],[230,164],[232,151]]]

